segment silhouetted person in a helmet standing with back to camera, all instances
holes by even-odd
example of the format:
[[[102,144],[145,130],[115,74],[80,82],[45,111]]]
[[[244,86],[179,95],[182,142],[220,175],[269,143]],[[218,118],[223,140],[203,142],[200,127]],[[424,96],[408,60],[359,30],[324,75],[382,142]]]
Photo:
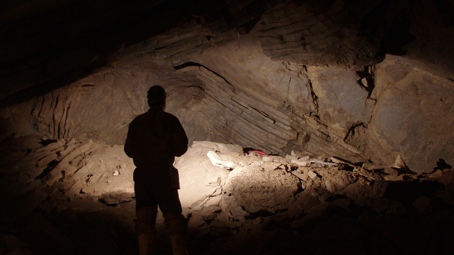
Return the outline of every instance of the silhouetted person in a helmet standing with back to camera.
[[[148,112],[129,124],[126,155],[133,158],[136,193],[136,232],[140,255],[154,254],[157,207],[164,216],[174,254],[187,254],[187,222],[178,197],[175,157],[188,149],[188,137],[177,117],[164,112],[166,93],[161,86],[148,90]]]

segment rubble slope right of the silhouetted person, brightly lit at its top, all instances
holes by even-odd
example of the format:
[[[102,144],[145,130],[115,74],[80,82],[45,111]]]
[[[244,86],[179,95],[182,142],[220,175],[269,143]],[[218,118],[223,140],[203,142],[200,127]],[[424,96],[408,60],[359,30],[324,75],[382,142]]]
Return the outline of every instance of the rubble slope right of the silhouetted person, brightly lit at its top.
[[[415,174],[400,157],[380,166],[299,151],[245,155],[206,141],[194,142],[176,167],[198,254],[452,251],[451,169]]]

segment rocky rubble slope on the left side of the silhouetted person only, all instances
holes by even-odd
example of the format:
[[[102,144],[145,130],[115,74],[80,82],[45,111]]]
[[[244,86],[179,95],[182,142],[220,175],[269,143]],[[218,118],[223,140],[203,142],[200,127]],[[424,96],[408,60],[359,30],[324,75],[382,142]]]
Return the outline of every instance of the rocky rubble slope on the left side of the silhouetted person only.
[[[123,146],[29,135],[0,147],[0,254],[128,254],[118,238],[134,205],[106,206],[133,200]]]

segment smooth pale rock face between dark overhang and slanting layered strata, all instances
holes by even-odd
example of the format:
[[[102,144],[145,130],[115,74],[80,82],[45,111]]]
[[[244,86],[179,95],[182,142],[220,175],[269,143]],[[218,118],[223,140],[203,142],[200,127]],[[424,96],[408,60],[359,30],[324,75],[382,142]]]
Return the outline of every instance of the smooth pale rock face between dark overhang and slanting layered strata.
[[[247,35],[220,47],[209,48],[194,62],[208,67],[235,89],[270,107],[293,105],[310,111],[312,100],[302,65],[272,61],[263,54],[257,37]]]

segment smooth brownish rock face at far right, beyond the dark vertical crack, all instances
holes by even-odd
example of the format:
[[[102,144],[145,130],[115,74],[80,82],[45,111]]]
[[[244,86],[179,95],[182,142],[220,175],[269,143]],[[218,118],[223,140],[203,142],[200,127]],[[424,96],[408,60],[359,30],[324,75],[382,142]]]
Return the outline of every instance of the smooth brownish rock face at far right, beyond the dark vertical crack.
[[[389,58],[376,67],[377,104],[369,139],[385,150],[401,152],[405,164],[418,173],[432,172],[439,159],[452,162],[453,82],[402,58]],[[390,155],[383,160],[392,165],[398,154]]]

